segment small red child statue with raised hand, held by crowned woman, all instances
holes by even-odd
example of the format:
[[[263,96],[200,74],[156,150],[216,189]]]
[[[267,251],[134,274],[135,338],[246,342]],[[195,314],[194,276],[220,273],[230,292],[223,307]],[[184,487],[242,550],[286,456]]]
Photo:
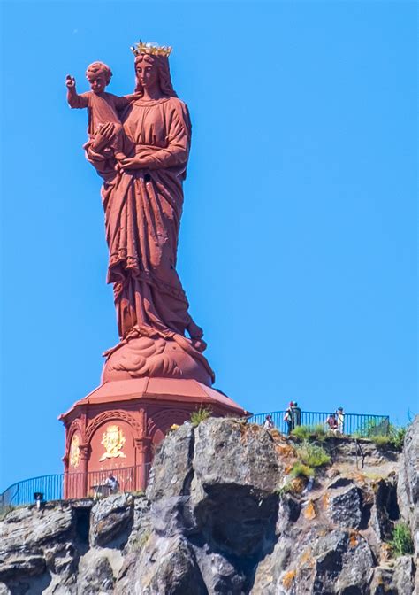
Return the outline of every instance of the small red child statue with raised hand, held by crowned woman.
[[[93,62],[86,71],[90,91],[79,95],[76,91],[76,81],[71,74],[67,74],[65,85],[70,107],[88,108],[88,143],[83,148],[88,150],[88,147],[95,141],[97,131],[110,123],[112,124],[113,135],[103,154],[108,153],[108,157],[113,155],[117,161],[120,161],[126,158],[126,154],[132,147],[128,146],[119,114],[138,98],[138,94],[118,97],[112,93],[107,93],[104,89],[109,85],[111,77],[112,72],[109,66],[106,66],[103,62]]]

